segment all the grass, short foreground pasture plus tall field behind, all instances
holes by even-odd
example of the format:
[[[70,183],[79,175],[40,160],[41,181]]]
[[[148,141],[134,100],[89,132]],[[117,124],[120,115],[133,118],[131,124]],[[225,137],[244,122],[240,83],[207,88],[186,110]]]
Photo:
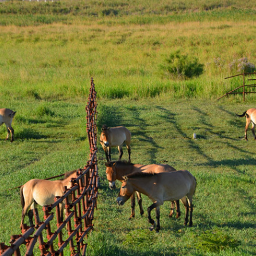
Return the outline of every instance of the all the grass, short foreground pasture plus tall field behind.
[[[150,232],[137,207],[129,221],[129,201],[115,202],[118,189],[108,188],[98,143],[88,255],[255,255],[256,142],[250,131],[243,139],[245,118],[235,115],[255,107],[255,95],[216,100],[242,85],[241,77],[224,79],[238,72],[230,69],[234,60],[256,64],[255,8],[253,1],[218,0],[0,3],[0,107],[17,111],[13,143],[0,127],[0,242],[20,234],[19,190],[10,188],[86,165],[92,76],[98,135],[104,124],[126,126],[132,162],[188,169],[197,190],[193,227],[183,226],[183,206],[180,219],[169,219],[166,202],[161,231]],[[197,57],[203,74],[163,75],[160,66],[176,50]],[[149,205],[144,196],[144,210]]]

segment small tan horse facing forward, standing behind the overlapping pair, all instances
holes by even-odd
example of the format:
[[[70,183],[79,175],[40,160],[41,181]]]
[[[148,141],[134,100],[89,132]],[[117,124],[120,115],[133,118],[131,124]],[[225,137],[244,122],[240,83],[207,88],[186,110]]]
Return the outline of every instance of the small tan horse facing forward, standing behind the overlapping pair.
[[[111,161],[111,148],[118,147],[119,159],[123,156],[123,143],[126,143],[128,149],[129,161],[131,161],[131,132],[123,126],[118,127],[107,127],[102,126],[102,134],[100,135],[100,144],[106,154],[107,162]]]

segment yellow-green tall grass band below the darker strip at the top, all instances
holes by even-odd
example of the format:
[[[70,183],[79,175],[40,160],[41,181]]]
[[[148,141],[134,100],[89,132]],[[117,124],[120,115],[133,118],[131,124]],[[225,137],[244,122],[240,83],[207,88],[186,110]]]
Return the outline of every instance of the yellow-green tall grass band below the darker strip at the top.
[[[239,79],[224,80],[235,74],[228,68],[232,61],[244,56],[256,61],[254,21],[77,22],[2,26],[0,95],[79,99],[94,76],[99,98],[214,99],[242,84]],[[203,75],[191,80],[162,77],[160,65],[175,50],[197,57],[204,64]]]

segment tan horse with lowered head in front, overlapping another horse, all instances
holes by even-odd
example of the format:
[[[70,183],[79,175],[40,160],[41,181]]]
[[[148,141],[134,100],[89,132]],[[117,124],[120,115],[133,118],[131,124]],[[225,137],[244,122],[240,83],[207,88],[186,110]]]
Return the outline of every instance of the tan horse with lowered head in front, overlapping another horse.
[[[148,221],[154,229],[155,222],[151,218],[151,211],[156,208],[157,226],[160,230],[160,205],[164,201],[181,200],[185,206],[185,222],[188,223],[188,210],[190,212],[189,226],[192,226],[192,199],[196,189],[196,179],[188,170],[177,170],[169,173],[132,173],[124,177],[122,187],[117,197],[118,205],[123,205],[135,191],[143,193],[152,200],[148,207]],[[187,200],[188,199],[188,200]]]

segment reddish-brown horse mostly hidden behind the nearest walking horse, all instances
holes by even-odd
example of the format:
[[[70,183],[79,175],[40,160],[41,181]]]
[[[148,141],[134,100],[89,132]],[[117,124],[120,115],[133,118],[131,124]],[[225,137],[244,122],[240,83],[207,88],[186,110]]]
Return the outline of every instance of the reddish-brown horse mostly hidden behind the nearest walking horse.
[[[145,173],[161,173],[161,172],[173,172],[174,169],[172,166],[167,164],[150,164],[150,165],[141,165],[141,164],[131,164],[130,162],[118,161],[118,162],[108,162],[105,164],[107,180],[110,189],[115,189],[115,180],[123,181],[123,176],[135,172],[145,172]],[[142,208],[142,199],[141,194],[137,192],[139,210],[141,215],[144,211]],[[180,216],[180,202],[179,200],[175,201],[176,203],[176,219]],[[134,218],[135,216],[135,197],[131,196],[131,216],[129,219]],[[171,218],[173,215],[174,203],[171,203],[170,214]]]

